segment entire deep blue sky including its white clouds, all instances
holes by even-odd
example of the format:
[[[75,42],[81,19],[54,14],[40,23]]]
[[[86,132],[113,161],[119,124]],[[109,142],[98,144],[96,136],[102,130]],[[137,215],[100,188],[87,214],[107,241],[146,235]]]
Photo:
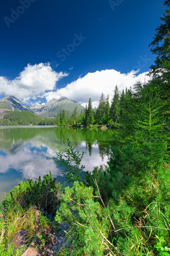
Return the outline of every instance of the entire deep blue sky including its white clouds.
[[[111,99],[154,63],[149,44],[164,11],[161,0],[2,0],[0,97]]]

